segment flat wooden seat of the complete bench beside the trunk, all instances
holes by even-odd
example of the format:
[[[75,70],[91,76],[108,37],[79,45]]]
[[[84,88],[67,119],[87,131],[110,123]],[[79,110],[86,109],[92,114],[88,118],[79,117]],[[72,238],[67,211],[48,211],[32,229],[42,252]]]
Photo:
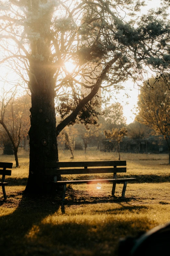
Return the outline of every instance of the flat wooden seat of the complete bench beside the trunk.
[[[87,180],[62,180],[62,181],[50,181],[49,183],[64,185],[64,184],[79,184],[79,183],[87,183],[87,184],[96,184],[102,182],[113,182],[122,183],[125,181],[136,180],[135,178],[124,178],[124,179],[87,179]]]

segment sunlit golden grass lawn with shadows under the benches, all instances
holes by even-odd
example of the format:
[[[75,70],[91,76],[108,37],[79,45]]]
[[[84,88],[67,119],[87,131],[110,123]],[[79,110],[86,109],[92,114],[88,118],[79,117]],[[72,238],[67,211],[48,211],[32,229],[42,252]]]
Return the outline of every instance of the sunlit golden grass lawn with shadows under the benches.
[[[0,162],[15,163],[14,156],[1,153]],[[69,151],[59,152],[60,161],[73,161],[70,157]],[[97,160],[118,160],[118,156],[90,149],[86,155],[75,151],[74,161]],[[21,150],[21,167],[13,168],[12,176],[7,178],[6,202],[0,188],[1,255],[116,256],[121,237],[135,236],[170,221],[168,155],[121,153],[121,160],[127,161],[127,173],[119,177],[137,178],[137,182],[127,184],[125,199],[120,198],[122,184],[116,185],[114,197],[112,184],[102,184],[101,189],[96,184],[79,184],[66,191],[62,203],[59,196],[22,195],[29,154]],[[95,177],[106,176],[111,177]]]

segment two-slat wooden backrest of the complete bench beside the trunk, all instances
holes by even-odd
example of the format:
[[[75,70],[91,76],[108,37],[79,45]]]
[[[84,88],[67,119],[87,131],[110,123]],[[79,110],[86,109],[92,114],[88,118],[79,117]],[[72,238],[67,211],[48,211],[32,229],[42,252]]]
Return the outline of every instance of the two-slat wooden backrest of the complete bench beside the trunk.
[[[45,162],[46,175],[58,174],[94,174],[126,172],[126,161],[93,161],[93,162]],[[71,169],[70,169],[70,168]],[[74,167],[84,167],[76,168]],[[101,167],[101,168],[89,168]],[[67,168],[67,169],[59,169]]]

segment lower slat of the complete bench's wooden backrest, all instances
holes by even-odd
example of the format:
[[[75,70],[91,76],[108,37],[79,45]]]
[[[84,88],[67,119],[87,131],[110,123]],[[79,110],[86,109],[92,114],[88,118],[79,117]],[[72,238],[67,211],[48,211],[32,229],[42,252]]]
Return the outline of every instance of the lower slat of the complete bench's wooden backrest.
[[[126,167],[118,168],[86,168],[86,169],[46,169],[46,175],[58,174],[92,174],[92,173],[117,173],[126,172]]]

